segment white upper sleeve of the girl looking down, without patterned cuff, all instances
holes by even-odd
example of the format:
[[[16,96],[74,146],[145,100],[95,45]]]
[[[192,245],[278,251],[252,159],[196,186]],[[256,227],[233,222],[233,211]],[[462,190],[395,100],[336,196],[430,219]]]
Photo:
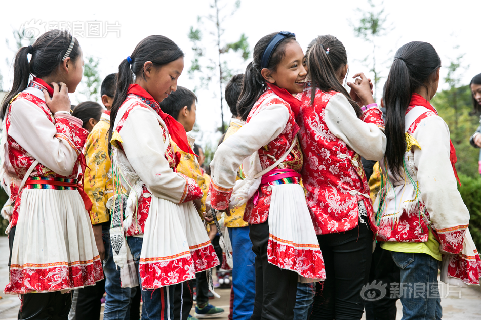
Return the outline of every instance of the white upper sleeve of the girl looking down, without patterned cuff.
[[[186,180],[169,167],[163,131],[152,111],[138,107],[130,111],[119,133],[129,163],[152,194],[180,203]]]

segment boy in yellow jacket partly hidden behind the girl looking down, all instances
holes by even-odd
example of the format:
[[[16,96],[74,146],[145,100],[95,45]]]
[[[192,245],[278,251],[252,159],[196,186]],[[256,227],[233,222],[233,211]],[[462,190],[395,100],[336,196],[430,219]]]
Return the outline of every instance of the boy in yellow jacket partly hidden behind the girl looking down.
[[[195,116],[197,112],[197,96],[189,89],[182,86],[177,86],[177,90],[172,92],[168,99],[164,99],[160,103],[162,111],[171,115],[175,120],[177,120],[184,127],[186,132],[192,131],[195,124]],[[187,133],[187,139],[189,140],[190,147],[195,144],[195,138]],[[206,197],[207,197],[207,184],[206,179],[203,177],[197,157],[193,154],[183,151],[175,143],[172,143],[172,148],[174,152],[180,153],[180,162],[177,165],[177,172],[185,174],[186,176],[194,179],[203,192],[203,197],[201,201],[198,201],[197,211],[202,216],[206,212]],[[195,203],[195,202],[194,202]],[[205,285],[205,290],[202,290],[201,282],[197,284],[197,304],[195,306],[196,316],[203,315],[208,316],[220,316],[224,313],[221,308],[214,307],[212,304],[208,303],[207,295],[203,293],[209,291],[207,278],[205,273],[199,273],[196,278],[203,277]],[[192,289],[193,282],[183,282],[175,286],[174,295],[174,318],[175,319],[187,319],[189,312],[192,309],[193,299],[192,299]]]

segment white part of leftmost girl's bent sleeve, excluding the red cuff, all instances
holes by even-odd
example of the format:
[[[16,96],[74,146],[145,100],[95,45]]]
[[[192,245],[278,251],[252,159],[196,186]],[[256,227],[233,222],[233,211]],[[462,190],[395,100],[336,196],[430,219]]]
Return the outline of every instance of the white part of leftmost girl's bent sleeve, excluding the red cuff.
[[[63,176],[72,174],[77,150],[56,138],[57,128],[33,102],[17,99],[10,109],[8,135],[39,163]]]

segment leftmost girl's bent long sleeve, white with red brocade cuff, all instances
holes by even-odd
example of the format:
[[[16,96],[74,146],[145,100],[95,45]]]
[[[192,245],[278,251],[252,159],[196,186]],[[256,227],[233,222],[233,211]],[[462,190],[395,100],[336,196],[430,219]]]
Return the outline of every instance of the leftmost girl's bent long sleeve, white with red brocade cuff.
[[[34,103],[12,102],[8,134],[33,158],[50,170],[69,176],[82,152],[88,131],[72,116],[56,118],[53,124]]]

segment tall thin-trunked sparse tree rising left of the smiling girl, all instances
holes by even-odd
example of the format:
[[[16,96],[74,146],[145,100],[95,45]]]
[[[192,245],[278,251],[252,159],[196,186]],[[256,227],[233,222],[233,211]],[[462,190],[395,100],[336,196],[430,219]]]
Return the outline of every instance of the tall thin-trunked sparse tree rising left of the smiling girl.
[[[249,58],[249,43],[247,37],[243,33],[236,42],[226,42],[224,39],[224,23],[227,18],[231,17],[240,6],[240,1],[237,0],[233,6],[232,11],[226,12],[228,9],[228,2],[224,3],[222,0],[213,0],[210,6],[210,14],[207,16],[197,17],[197,27],[190,27],[188,34],[189,40],[192,42],[192,51],[194,57],[192,58],[192,66],[188,73],[191,79],[197,77],[200,87],[208,89],[209,85],[218,85],[219,95],[214,94],[220,101],[220,111],[222,117],[221,131],[225,132],[224,123],[224,107],[223,94],[224,84],[232,77],[233,69],[229,68],[225,55],[229,52],[238,52],[240,57],[246,61]],[[204,22],[208,24],[205,25]],[[201,31],[203,28],[203,31]],[[207,33],[207,41],[205,34]],[[213,43],[215,52],[209,52],[204,47],[204,43]],[[199,89],[195,86],[194,91]]]

